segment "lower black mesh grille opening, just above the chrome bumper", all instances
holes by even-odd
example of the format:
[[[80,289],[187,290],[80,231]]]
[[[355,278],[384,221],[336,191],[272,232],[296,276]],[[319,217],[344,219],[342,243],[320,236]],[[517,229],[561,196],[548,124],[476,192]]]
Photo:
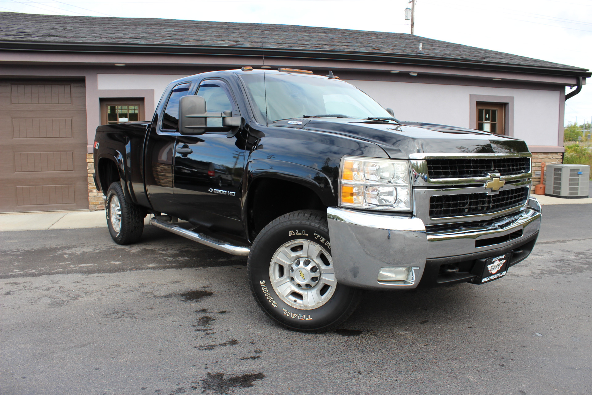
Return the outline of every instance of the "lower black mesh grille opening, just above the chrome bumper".
[[[500,191],[497,195],[461,194],[430,197],[430,217],[445,218],[496,213],[525,204],[528,188]]]

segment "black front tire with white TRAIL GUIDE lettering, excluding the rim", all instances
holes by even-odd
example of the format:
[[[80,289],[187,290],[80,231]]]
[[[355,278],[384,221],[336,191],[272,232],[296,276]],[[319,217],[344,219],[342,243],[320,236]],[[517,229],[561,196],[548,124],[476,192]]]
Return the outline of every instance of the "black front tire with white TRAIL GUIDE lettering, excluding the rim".
[[[272,286],[270,265],[278,248],[291,240],[308,240],[331,253],[324,213],[294,211],[268,224],[256,237],[249,254],[250,287],[265,313],[289,329],[324,332],[348,319],[359,303],[359,291],[336,284],[329,300],[313,309],[299,309],[282,301]]]

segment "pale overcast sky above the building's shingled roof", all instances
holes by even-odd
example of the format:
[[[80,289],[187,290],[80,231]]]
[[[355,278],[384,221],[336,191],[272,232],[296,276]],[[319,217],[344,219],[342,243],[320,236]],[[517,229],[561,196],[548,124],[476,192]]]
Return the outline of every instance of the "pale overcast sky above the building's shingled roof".
[[[592,69],[592,0],[417,0],[417,36]],[[409,33],[407,0],[0,0],[2,11],[336,27]],[[565,124],[592,119],[592,79]],[[536,114],[533,114],[536,117]]]

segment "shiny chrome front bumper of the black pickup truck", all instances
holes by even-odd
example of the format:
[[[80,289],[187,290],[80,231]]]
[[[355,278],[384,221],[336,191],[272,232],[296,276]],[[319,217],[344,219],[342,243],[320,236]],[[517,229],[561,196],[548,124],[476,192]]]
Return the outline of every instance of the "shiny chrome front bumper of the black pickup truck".
[[[426,232],[423,221],[413,216],[337,207],[327,208],[327,219],[338,282],[367,289],[416,288],[428,260],[453,263],[455,257],[459,262],[484,258],[535,240],[540,228],[540,205],[531,198],[526,210],[487,227],[440,232]],[[413,269],[407,281],[378,281],[378,272],[385,266]]]

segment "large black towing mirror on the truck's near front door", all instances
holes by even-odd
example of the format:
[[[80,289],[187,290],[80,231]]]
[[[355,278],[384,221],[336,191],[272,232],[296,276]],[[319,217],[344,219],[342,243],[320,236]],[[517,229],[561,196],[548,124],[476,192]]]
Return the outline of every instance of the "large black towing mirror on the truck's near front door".
[[[223,126],[206,126],[208,118],[223,118]],[[240,118],[239,118],[240,119]],[[234,126],[232,111],[208,113],[201,96],[184,96],[179,100],[179,133],[195,136],[207,131],[231,131]],[[238,130],[238,127],[236,127]]]

